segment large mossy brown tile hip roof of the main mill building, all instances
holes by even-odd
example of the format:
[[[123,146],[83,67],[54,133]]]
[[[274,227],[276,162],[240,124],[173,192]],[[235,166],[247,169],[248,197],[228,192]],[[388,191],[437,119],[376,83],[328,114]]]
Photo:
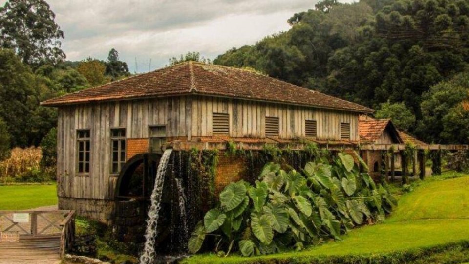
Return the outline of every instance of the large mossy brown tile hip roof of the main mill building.
[[[371,113],[372,109],[253,71],[185,62],[49,99],[45,106],[142,97],[205,94]]]

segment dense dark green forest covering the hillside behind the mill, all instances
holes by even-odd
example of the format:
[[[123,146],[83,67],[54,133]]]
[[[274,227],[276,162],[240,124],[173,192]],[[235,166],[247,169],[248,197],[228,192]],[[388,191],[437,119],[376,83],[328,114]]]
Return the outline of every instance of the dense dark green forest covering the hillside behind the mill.
[[[405,123],[404,130],[412,127],[413,133],[418,121],[431,117],[421,107],[423,94],[465,71],[469,61],[467,0],[326,0],[288,23],[290,30],[230,49],[214,63],[253,67],[375,109],[388,101],[403,102],[417,121],[412,126],[393,121]],[[457,114],[441,122],[451,125]],[[440,131],[415,132],[426,139],[438,138]],[[455,140],[466,143],[468,138]]]

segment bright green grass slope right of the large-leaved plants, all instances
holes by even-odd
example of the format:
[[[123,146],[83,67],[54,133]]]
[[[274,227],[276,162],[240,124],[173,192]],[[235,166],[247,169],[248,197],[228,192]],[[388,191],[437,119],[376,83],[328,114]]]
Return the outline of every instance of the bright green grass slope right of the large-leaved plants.
[[[306,263],[308,259],[390,254],[469,241],[469,176],[444,180],[435,177],[418,185],[401,197],[397,210],[384,223],[354,229],[342,241],[252,258],[203,254],[186,263]]]

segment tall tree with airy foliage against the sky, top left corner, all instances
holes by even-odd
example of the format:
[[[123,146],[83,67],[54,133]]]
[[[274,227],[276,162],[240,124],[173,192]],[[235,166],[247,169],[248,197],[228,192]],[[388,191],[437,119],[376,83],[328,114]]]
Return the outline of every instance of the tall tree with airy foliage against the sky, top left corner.
[[[64,32],[43,0],[8,0],[0,7],[0,46],[13,49],[23,63],[56,64],[65,58],[60,39]]]

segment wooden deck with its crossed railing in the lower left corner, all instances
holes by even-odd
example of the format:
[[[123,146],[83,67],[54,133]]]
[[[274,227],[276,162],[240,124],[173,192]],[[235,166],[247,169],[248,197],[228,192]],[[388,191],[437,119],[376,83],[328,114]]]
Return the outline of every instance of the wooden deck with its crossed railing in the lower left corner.
[[[59,264],[75,233],[74,211],[0,211],[0,264]],[[15,214],[27,221],[16,222]]]

